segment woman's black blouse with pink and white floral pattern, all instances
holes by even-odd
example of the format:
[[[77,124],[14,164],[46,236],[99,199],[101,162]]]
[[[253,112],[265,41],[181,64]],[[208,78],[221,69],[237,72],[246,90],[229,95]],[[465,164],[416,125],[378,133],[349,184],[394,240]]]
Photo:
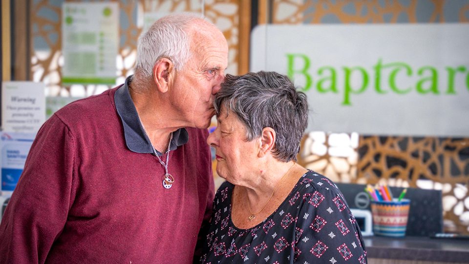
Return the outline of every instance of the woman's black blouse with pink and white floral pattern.
[[[313,171],[266,220],[249,229],[231,220],[234,185],[218,189],[203,264],[366,263],[362,234],[340,190]]]

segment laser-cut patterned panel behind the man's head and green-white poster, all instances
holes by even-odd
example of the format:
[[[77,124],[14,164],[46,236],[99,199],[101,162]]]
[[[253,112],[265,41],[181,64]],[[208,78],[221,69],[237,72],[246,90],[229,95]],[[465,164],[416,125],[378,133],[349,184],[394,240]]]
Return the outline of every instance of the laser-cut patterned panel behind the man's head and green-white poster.
[[[107,2],[105,0],[67,2]],[[137,14],[145,12],[195,12],[200,13],[200,0],[112,0],[120,7],[120,45],[117,55],[117,84],[133,73],[136,44],[143,23]],[[63,56],[61,42],[61,16],[64,0],[35,0],[31,2],[31,72],[33,80],[46,85],[47,96],[85,97],[101,93],[111,87],[104,85],[61,85]],[[207,0],[206,17],[220,28],[230,47],[227,73],[237,73],[238,61],[238,5],[237,0]]]

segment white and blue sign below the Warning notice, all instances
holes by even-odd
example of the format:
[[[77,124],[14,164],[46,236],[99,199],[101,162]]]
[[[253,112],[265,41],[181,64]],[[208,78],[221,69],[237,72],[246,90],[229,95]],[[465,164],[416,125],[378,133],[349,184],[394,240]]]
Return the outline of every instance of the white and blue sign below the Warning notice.
[[[2,194],[11,194],[15,190],[35,136],[35,133],[1,133],[0,167]]]

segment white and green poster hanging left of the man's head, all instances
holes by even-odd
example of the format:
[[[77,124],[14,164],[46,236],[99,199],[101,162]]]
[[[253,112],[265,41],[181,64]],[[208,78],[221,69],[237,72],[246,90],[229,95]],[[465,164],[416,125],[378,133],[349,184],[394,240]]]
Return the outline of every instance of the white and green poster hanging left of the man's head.
[[[115,85],[119,3],[62,5],[62,83]]]

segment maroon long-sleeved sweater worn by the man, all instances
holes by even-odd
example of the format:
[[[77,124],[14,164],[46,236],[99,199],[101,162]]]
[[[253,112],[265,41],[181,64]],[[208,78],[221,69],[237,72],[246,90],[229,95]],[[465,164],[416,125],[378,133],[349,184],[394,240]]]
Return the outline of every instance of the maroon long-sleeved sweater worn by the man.
[[[208,132],[187,129],[187,143],[170,152],[175,183],[165,189],[156,156],[129,150],[143,132],[124,132],[116,90],[44,123],[1,221],[1,264],[192,263],[214,195]],[[129,102],[128,90],[119,96]],[[122,112],[137,117],[133,104]]]

